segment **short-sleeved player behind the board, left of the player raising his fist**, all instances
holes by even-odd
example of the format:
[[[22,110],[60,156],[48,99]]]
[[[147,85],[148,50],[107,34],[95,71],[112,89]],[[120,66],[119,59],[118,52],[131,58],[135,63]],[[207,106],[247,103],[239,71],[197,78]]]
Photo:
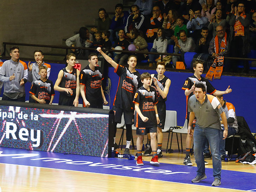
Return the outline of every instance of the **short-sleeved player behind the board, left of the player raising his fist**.
[[[88,56],[89,65],[80,73],[80,92],[83,98],[83,107],[103,109],[108,102],[105,98],[101,81],[104,79],[101,68],[98,66],[96,53]],[[103,101],[102,101],[103,100]]]

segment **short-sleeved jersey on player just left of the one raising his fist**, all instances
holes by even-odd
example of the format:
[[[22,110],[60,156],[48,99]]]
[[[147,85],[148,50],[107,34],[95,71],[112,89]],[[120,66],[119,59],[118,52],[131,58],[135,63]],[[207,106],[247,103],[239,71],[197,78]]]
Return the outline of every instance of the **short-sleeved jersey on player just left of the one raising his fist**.
[[[92,71],[87,65],[79,75],[80,84],[84,86],[85,98],[92,105],[102,104],[101,81],[104,79],[101,68],[96,66]]]

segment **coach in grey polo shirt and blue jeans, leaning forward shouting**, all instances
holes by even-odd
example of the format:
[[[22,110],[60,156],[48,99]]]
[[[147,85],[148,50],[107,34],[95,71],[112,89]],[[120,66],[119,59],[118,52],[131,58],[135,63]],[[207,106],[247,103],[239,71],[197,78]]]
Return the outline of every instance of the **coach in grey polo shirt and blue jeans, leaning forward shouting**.
[[[206,94],[205,85],[198,83],[195,86],[194,95],[188,101],[188,111],[190,112],[188,122],[188,134],[192,135],[191,126],[193,119],[197,119],[194,129],[194,156],[197,163],[197,176],[192,179],[192,183],[198,183],[206,179],[204,165],[204,146],[208,139],[211,153],[214,181],[212,186],[220,185],[221,160],[219,154],[219,134],[220,120],[222,117],[224,124],[223,139],[228,135],[228,124],[225,112],[218,99]]]

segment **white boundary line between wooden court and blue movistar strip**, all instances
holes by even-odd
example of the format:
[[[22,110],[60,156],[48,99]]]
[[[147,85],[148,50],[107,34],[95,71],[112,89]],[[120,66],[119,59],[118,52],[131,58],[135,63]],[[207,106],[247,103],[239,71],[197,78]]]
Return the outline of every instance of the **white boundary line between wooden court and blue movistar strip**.
[[[1,163],[0,164],[8,164],[8,163]],[[8,165],[18,165],[18,164],[8,164]],[[19,166],[28,166],[28,167],[39,167],[39,166],[31,166],[31,165],[19,165]],[[58,168],[50,168],[50,167],[40,167],[40,168],[46,168],[46,169],[58,169]],[[76,170],[69,170],[69,169],[59,169],[59,170],[64,170],[64,171],[75,171]],[[83,173],[94,173],[94,172],[88,172],[88,171],[77,171],[77,172],[83,172]],[[119,176],[119,177],[129,177],[129,178],[135,178],[135,179],[146,179],[146,180],[153,180],[153,181],[163,181],[163,180],[158,180],[158,179],[147,179],[147,178],[140,178],[140,177],[130,177],[130,176],[125,176],[125,175],[114,175],[114,174],[107,174],[107,173],[94,173],[94,174],[102,174],[102,175],[113,175],[113,176]],[[179,182],[174,182],[174,181],[164,181],[168,183],[178,183],[178,184],[185,184],[185,185],[196,185],[196,184],[190,184],[190,183],[179,183]],[[211,187],[211,188],[222,188],[222,189],[230,189],[230,190],[236,190],[236,191],[244,191],[244,190],[239,190],[239,189],[232,189],[232,188],[224,188],[224,187],[214,187],[214,186],[206,186],[206,185],[196,185],[196,186],[203,186],[203,187]],[[248,190],[252,191],[252,190]],[[1,191],[0,191],[1,192]]]

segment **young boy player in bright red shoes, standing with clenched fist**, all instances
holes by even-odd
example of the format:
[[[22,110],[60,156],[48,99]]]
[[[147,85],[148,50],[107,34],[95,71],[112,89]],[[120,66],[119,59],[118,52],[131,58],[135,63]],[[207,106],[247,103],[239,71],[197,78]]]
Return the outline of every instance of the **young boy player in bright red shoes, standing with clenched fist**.
[[[143,86],[136,91],[133,99],[135,104],[134,126],[137,128],[136,134],[138,135],[136,165],[144,165],[141,156],[142,143],[144,135],[150,133],[153,154],[150,164],[159,166],[158,155],[156,154],[156,127],[160,120],[156,108],[156,103],[158,102],[156,91],[150,86],[151,76],[149,73],[141,74],[141,82]]]

